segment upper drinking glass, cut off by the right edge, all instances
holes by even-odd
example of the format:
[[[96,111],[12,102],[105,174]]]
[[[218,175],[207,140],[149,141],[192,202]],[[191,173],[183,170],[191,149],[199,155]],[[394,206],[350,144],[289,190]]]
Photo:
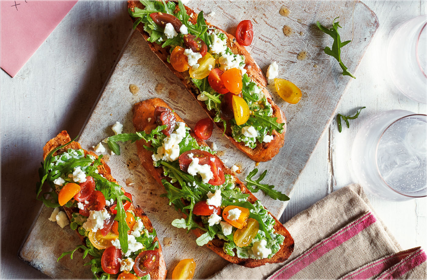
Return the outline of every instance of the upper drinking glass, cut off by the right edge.
[[[387,52],[387,68],[396,87],[407,97],[427,103],[427,15],[404,23]]]

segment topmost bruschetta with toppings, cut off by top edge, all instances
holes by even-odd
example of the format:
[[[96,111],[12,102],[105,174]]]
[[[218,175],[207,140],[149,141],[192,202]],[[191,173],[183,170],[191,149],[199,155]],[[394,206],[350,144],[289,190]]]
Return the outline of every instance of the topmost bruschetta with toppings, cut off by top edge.
[[[243,47],[252,42],[252,23],[238,25],[236,40],[181,1],[128,1],[128,8],[134,28],[225,136],[252,160],[272,159],[284,144],[286,118]]]

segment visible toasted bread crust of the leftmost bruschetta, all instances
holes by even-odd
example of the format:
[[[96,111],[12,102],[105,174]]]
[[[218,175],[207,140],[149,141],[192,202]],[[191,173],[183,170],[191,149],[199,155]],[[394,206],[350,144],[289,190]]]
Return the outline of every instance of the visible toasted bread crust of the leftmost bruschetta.
[[[55,138],[49,140],[46,143],[46,145],[44,146],[44,148],[43,148],[43,159],[45,159],[46,156],[53,149],[55,149],[58,146],[62,146],[62,145],[66,144],[70,141],[71,141],[71,138],[70,138],[70,135],[68,135],[67,131],[65,131],[65,130],[61,131],[61,133],[59,133]],[[82,149],[82,146],[80,146],[79,143],[73,141],[69,145],[65,146],[64,148],[56,151],[53,155],[54,156],[60,155],[61,153],[66,152],[67,149]],[[90,152],[90,151],[86,151],[86,150],[84,150],[84,151],[85,151],[85,155],[93,155],[95,158],[98,157],[94,152]],[[108,181],[117,183],[116,179],[114,179],[111,176],[111,170],[110,170],[110,167],[108,167],[107,163],[105,163],[105,161],[103,159],[101,159],[101,163],[102,164],[98,166],[99,174],[104,176],[104,178],[106,178]],[[63,208],[64,208],[64,212],[68,216],[68,219],[70,219],[70,220],[71,220],[72,214],[74,212],[79,212],[79,209],[76,207],[73,207],[73,208],[63,207]],[[154,228],[153,228],[150,220],[148,219],[147,215],[144,213],[144,211],[139,206],[134,207],[134,205],[131,204],[131,207],[129,209],[133,210],[135,215],[141,218],[141,221],[143,222],[144,227],[149,232],[153,231]],[[76,229],[76,233],[79,235],[80,239],[82,240],[82,243],[85,244],[85,236],[82,236],[77,229]],[[155,241],[158,241],[157,236],[154,239],[154,242]],[[158,267],[156,267],[152,271],[150,271],[149,274],[151,276],[151,279],[166,279],[166,274],[167,274],[166,263],[164,262],[164,257],[163,257],[160,242],[159,242],[158,252],[159,252]]]

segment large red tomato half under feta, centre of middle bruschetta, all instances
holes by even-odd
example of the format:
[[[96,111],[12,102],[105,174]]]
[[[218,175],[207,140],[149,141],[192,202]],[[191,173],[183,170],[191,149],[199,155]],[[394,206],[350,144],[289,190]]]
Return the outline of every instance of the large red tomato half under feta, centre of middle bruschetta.
[[[216,157],[214,157],[209,152],[205,152],[202,150],[190,150],[187,152],[183,152],[178,158],[179,167],[182,171],[187,172],[188,166],[193,161],[193,159],[189,157],[189,154],[193,154],[193,158],[198,157],[200,165],[209,164],[211,166],[213,178],[209,180],[209,184],[213,186],[219,186],[224,184],[225,177],[224,171],[222,170],[222,164]],[[211,158],[213,158],[214,160],[211,160]]]

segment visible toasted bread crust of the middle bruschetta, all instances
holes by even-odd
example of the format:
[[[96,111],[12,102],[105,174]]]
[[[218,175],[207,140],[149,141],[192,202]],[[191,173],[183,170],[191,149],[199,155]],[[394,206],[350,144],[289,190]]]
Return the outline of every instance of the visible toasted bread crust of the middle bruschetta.
[[[156,128],[158,125],[151,121],[147,122],[147,119],[151,118],[152,120],[155,120],[154,118],[154,110],[158,106],[163,106],[166,108],[169,108],[172,110],[172,108],[167,105],[166,102],[164,102],[162,99],[154,98],[154,99],[148,99],[143,102],[135,104],[133,107],[133,124],[135,126],[136,131],[145,131],[146,133],[150,133],[152,129]],[[178,116],[178,114],[175,114],[176,121],[177,122],[184,122],[184,120],[181,119],[181,117]],[[200,140],[197,138],[193,131],[190,131],[190,135],[197,140],[197,143],[199,146],[206,146],[206,143],[203,140]],[[145,149],[143,146],[151,146],[150,143],[146,143],[144,140],[138,140],[136,142],[137,145],[137,151],[138,156],[140,158],[141,164],[143,167],[147,170],[149,174],[151,174],[158,182],[161,183],[162,179],[166,179],[167,181],[170,181],[169,177],[164,176],[163,174],[163,168],[155,167],[153,166],[153,160],[152,155],[153,152]],[[257,198],[245,187],[245,185],[234,175],[234,173],[227,167],[225,164],[219,159],[218,156],[214,155],[222,164],[222,170],[224,171],[224,174],[228,174],[233,176],[236,179],[236,187],[240,187],[242,192],[248,193],[249,198],[248,201],[254,204],[255,201],[257,201]],[[173,184],[177,188],[181,188],[179,184],[174,183]],[[269,213],[271,215],[271,213]],[[272,215],[273,216],[273,215]],[[271,258],[271,259],[241,259],[239,257],[231,257],[230,255],[226,254],[222,247],[224,246],[224,240],[218,239],[217,237],[213,239],[212,241],[208,242],[207,246],[208,248],[211,248],[212,251],[214,251],[216,254],[224,258],[225,260],[228,260],[229,262],[243,265],[246,267],[257,267],[260,265],[264,265],[267,262],[270,263],[276,263],[276,262],[284,262],[287,260],[287,258],[290,256],[290,254],[293,251],[294,248],[294,241],[292,239],[292,236],[287,231],[287,229],[273,216],[275,220],[274,229],[276,233],[280,233],[281,235],[285,236],[284,242],[281,245],[280,250]],[[202,230],[197,229],[193,230],[193,233],[199,237],[204,233]]]

